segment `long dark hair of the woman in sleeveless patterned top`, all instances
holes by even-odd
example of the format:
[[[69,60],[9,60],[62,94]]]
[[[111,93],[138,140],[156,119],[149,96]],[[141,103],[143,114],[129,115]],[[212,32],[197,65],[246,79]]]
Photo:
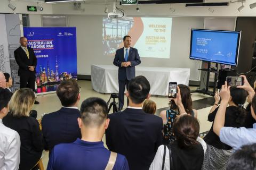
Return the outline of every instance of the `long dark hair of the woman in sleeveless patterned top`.
[[[185,111],[190,114],[190,112],[193,110],[192,107],[192,99],[191,99],[191,94],[190,94],[190,89],[188,86],[184,84],[178,84],[180,88],[180,95],[181,95],[181,101],[182,104],[185,108]],[[169,106],[171,110],[175,110],[178,108],[178,106],[175,104],[173,100],[169,102]]]

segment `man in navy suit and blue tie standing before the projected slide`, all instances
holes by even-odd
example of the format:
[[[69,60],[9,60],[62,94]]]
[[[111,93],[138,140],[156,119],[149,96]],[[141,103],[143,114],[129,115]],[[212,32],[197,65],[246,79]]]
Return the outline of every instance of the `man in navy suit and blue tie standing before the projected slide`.
[[[124,47],[116,50],[116,55],[113,64],[118,66],[118,111],[121,111],[124,106],[124,90],[125,85],[135,77],[135,66],[140,64],[140,56],[136,48],[131,46],[131,37],[124,36]],[[128,99],[127,99],[128,100]],[[128,105],[128,101],[127,101]]]

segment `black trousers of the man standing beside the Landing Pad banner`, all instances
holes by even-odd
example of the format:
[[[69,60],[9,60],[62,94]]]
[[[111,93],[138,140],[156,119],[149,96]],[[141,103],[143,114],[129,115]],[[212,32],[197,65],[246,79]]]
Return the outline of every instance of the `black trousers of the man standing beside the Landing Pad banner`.
[[[20,75],[20,88],[30,88],[35,91],[36,75],[34,72]]]

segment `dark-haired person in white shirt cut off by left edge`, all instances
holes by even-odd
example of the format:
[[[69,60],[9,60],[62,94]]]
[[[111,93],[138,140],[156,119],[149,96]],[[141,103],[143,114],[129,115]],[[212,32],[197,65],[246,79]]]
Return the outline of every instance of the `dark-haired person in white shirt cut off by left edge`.
[[[10,99],[10,93],[0,88],[0,169],[18,170],[20,164],[20,136],[16,131],[7,128],[2,121],[9,112]]]

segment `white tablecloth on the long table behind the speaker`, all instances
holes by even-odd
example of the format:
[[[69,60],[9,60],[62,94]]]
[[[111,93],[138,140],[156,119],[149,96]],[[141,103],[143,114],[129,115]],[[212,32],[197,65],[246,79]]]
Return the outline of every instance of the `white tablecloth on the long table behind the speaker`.
[[[136,66],[136,76],[145,76],[150,83],[150,94],[166,96],[169,82],[188,86],[190,69]],[[92,88],[101,93],[118,93],[118,67],[91,65]]]

